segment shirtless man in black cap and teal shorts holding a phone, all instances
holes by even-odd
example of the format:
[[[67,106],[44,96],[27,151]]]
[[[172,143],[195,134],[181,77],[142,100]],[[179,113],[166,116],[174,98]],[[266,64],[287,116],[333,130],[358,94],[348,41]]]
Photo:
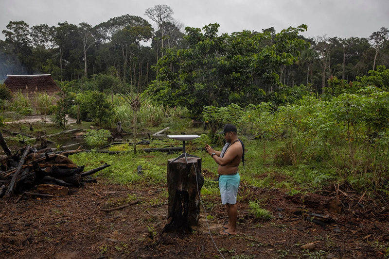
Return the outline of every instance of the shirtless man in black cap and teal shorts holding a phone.
[[[217,173],[220,175],[220,196],[229,218],[228,224],[223,227],[225,229],[221,230],[220,234],[236,235],[238,233],[236,229],[236,220],[238,218],[236,195],[240,182],[238,166],[242,160],[243,147],[238,140],[235,125],[226,124],[223,131],[219,133],[224,134],[224,138],[227,141],[222,151],[213,150],[209,145],[206,145],[205,148],[213,160],[219,165]]]

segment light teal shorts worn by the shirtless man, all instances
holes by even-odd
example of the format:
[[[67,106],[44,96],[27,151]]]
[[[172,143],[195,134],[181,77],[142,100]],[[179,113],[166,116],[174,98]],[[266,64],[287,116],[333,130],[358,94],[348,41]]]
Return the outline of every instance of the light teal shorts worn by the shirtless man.
[[[238,194],[238,188],[240,183],[240,175],[238,173],[233,175],[221,175],[219,178],[220,196],[222,198],[222,204],[235,204],[236,195]]]

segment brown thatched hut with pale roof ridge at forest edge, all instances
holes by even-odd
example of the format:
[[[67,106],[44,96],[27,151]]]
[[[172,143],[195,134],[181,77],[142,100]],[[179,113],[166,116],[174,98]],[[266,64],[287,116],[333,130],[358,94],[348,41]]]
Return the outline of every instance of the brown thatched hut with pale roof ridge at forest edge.
[[[7,75],[4,84],[12,92],[21,91],[23,94],[35,94],[37,92],[46,92],[48,95],[54,95],[61,89],[52,79],[51,74],[45,75]]]

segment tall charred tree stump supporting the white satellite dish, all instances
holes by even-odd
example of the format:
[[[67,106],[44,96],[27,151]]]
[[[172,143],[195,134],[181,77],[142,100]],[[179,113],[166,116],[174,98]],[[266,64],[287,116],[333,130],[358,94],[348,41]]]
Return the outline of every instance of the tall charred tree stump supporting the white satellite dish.
[[[200,214],[201,158],[184,158],[167,164],[167,188],[169,192],[168,220],[163,232],[188,233],[196,226]],[[197,180],[196,180],[197,178]],[[198,193],[197,193],[198,183]]]

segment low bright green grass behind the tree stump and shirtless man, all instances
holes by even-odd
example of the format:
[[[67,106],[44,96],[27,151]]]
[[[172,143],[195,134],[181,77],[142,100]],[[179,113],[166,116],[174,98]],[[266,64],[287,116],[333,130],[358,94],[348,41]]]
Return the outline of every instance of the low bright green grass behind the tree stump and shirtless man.
[[[202,141],[190,144],[188,152],[202,158],[202,170],[212,172],[212,175],[205,177],[202,194],[215,195],[219,193],[218,183],[213,181],[217,177],[217,165],[205,151],[198,150],[202,147]],[[264,151],[263,145],[257,140],[246,141],[245,167],[242,163],[239,172],[242,182],[256,187],[281,188],[289,194],[317,190],[328,184],[328,180],[337,180],[336,175],[324,163],[302,165],[293,167],[291,165],[279,165],[274,159],[281,142],[266,142]],[[175,154],[160,152],[146,153],[141,148],[180,146],[181,143],[162,139],[152,141],[152,145],[138,146],[139,152],[134,154],[132,146],[118,145],[109,148],[111,151],[125,151],[127,153],[108,155],[102,153],[79,153],[71,155],[70,158],[79,165],[85,165],[89,170],[106,162],[110,167],[99,173],[99,176],[108,178],[112,182],[121,184],[165,184],[166,164],[169,158]],[[260,147],[260,148],[258,148]],[[221,147],[214,147],[220,150]],[[143,174],[137,173],[137,166],[141,165]]]

